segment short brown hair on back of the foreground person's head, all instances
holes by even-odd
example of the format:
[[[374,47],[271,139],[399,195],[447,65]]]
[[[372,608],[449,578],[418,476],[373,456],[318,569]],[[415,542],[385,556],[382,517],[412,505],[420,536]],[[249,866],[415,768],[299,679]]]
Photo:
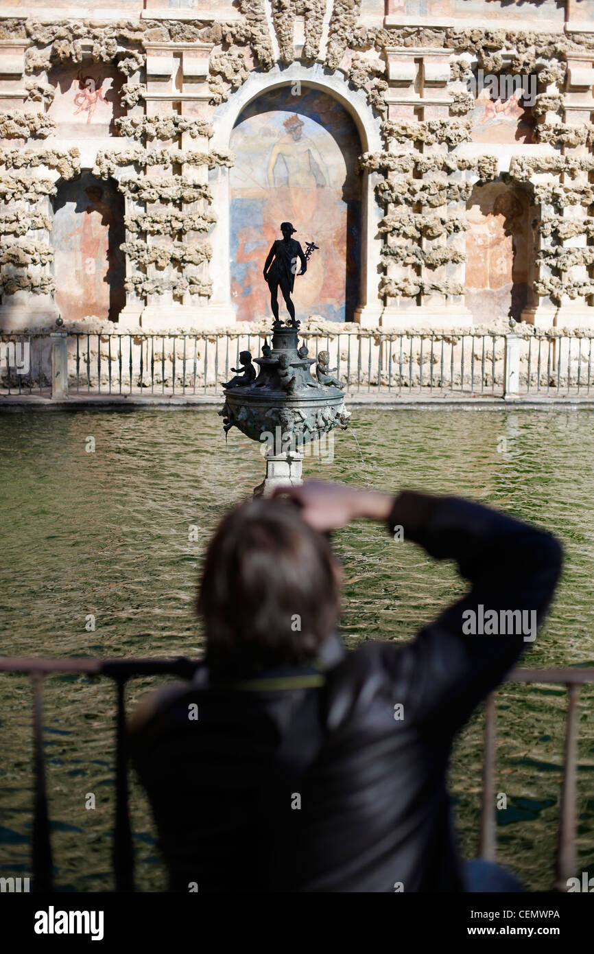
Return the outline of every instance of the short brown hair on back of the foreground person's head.
[[[209,544],[196,610],[213,669],[240,672],[311,659],[338,623],[330,543],[289,501],[241,504]]]

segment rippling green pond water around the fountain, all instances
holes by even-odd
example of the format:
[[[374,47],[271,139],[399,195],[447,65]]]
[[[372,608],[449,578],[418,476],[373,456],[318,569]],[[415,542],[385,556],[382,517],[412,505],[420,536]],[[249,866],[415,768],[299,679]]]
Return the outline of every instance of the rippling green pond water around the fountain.
[[[594,666],[593,421],[586,410],[357,410],[353,432],[336,436],[334,460],[306,459],[304,470],[394,491],[465,494],[553,529],[566,551],[563,583],[522,664]],[[94,453],[85,449],[90,436]],[[257,446],[233,431],[226,444],[215,411],[0,417],[0,653],[198,654],[192,604],[206,542],[262,473]],[[461,592],[452,565],[393,542],[379,526],[340,530],[336,547],[346,570],[342,632],[349,646],[370,637],[408,639]],[[94,632],[85,628],[89,614]],[[129,708],[158,684],[133,681]],[[54,676],[45,698],[56,883],[61,890],[110,890],[113,685]],[[533,890],[554,883],[565,705],[556,686],[507,683],[497,696],[497,792],[507,797],[497,813],[498,858]],[[479,712],[452,761],[467,857],[478,845],[482,725]],[[579,727],[579,871],[594,874],[594,689],[582,690]],[[0,674],[0,753],[0,873],[27,876],[31,687],[21,675]],[[91,792],[96,808],[87,810]],[[137,885],[162,890],[154,825],[134,779],[132,810]]]

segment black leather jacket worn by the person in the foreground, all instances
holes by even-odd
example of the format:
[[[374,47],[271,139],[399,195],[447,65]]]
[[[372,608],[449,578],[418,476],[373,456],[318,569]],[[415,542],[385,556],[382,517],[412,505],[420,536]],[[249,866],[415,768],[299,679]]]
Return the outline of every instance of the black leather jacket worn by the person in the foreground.
[[[466,635],[462,613],[534,610],[540,621],[562,551],[457,498],[401,494],[396,523],[471,584],[415,639],[345,653],[334,636],[311,666],[234,683],[202,667],[134,734],[172,890],[461,890],[452,742],[531,645],[523,633]]]

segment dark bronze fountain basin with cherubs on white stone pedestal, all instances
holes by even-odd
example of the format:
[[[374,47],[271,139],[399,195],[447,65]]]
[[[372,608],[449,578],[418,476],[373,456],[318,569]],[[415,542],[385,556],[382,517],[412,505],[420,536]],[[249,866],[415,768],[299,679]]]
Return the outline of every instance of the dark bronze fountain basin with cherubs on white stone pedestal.
[[[237,427],[266,444],[266,476],[255,494],[300,484],[303,445],[337,426],[345,428],[350,417],[344,384],[332,377],[327,352],[310,358],[305,342],[297,347],[297,336],[298,326],[274,324],[272,347],[265,341],[261,357],[254,359],[257,377],[252,355],[242,351],[241,373],[224,385],[225,404],[218,413],[225,433]]]

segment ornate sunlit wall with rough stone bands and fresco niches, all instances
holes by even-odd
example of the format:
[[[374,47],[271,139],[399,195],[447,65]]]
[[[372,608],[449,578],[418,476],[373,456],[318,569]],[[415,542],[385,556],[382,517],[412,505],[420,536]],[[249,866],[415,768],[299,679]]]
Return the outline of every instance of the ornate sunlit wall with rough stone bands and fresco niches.
[[[3,327],[233,325],[232,135],[277,88],[357,129],[355,321],[592,324],[594,0],[113,2],[0,8]],[[304,163],[315,236],[333,170]]]

